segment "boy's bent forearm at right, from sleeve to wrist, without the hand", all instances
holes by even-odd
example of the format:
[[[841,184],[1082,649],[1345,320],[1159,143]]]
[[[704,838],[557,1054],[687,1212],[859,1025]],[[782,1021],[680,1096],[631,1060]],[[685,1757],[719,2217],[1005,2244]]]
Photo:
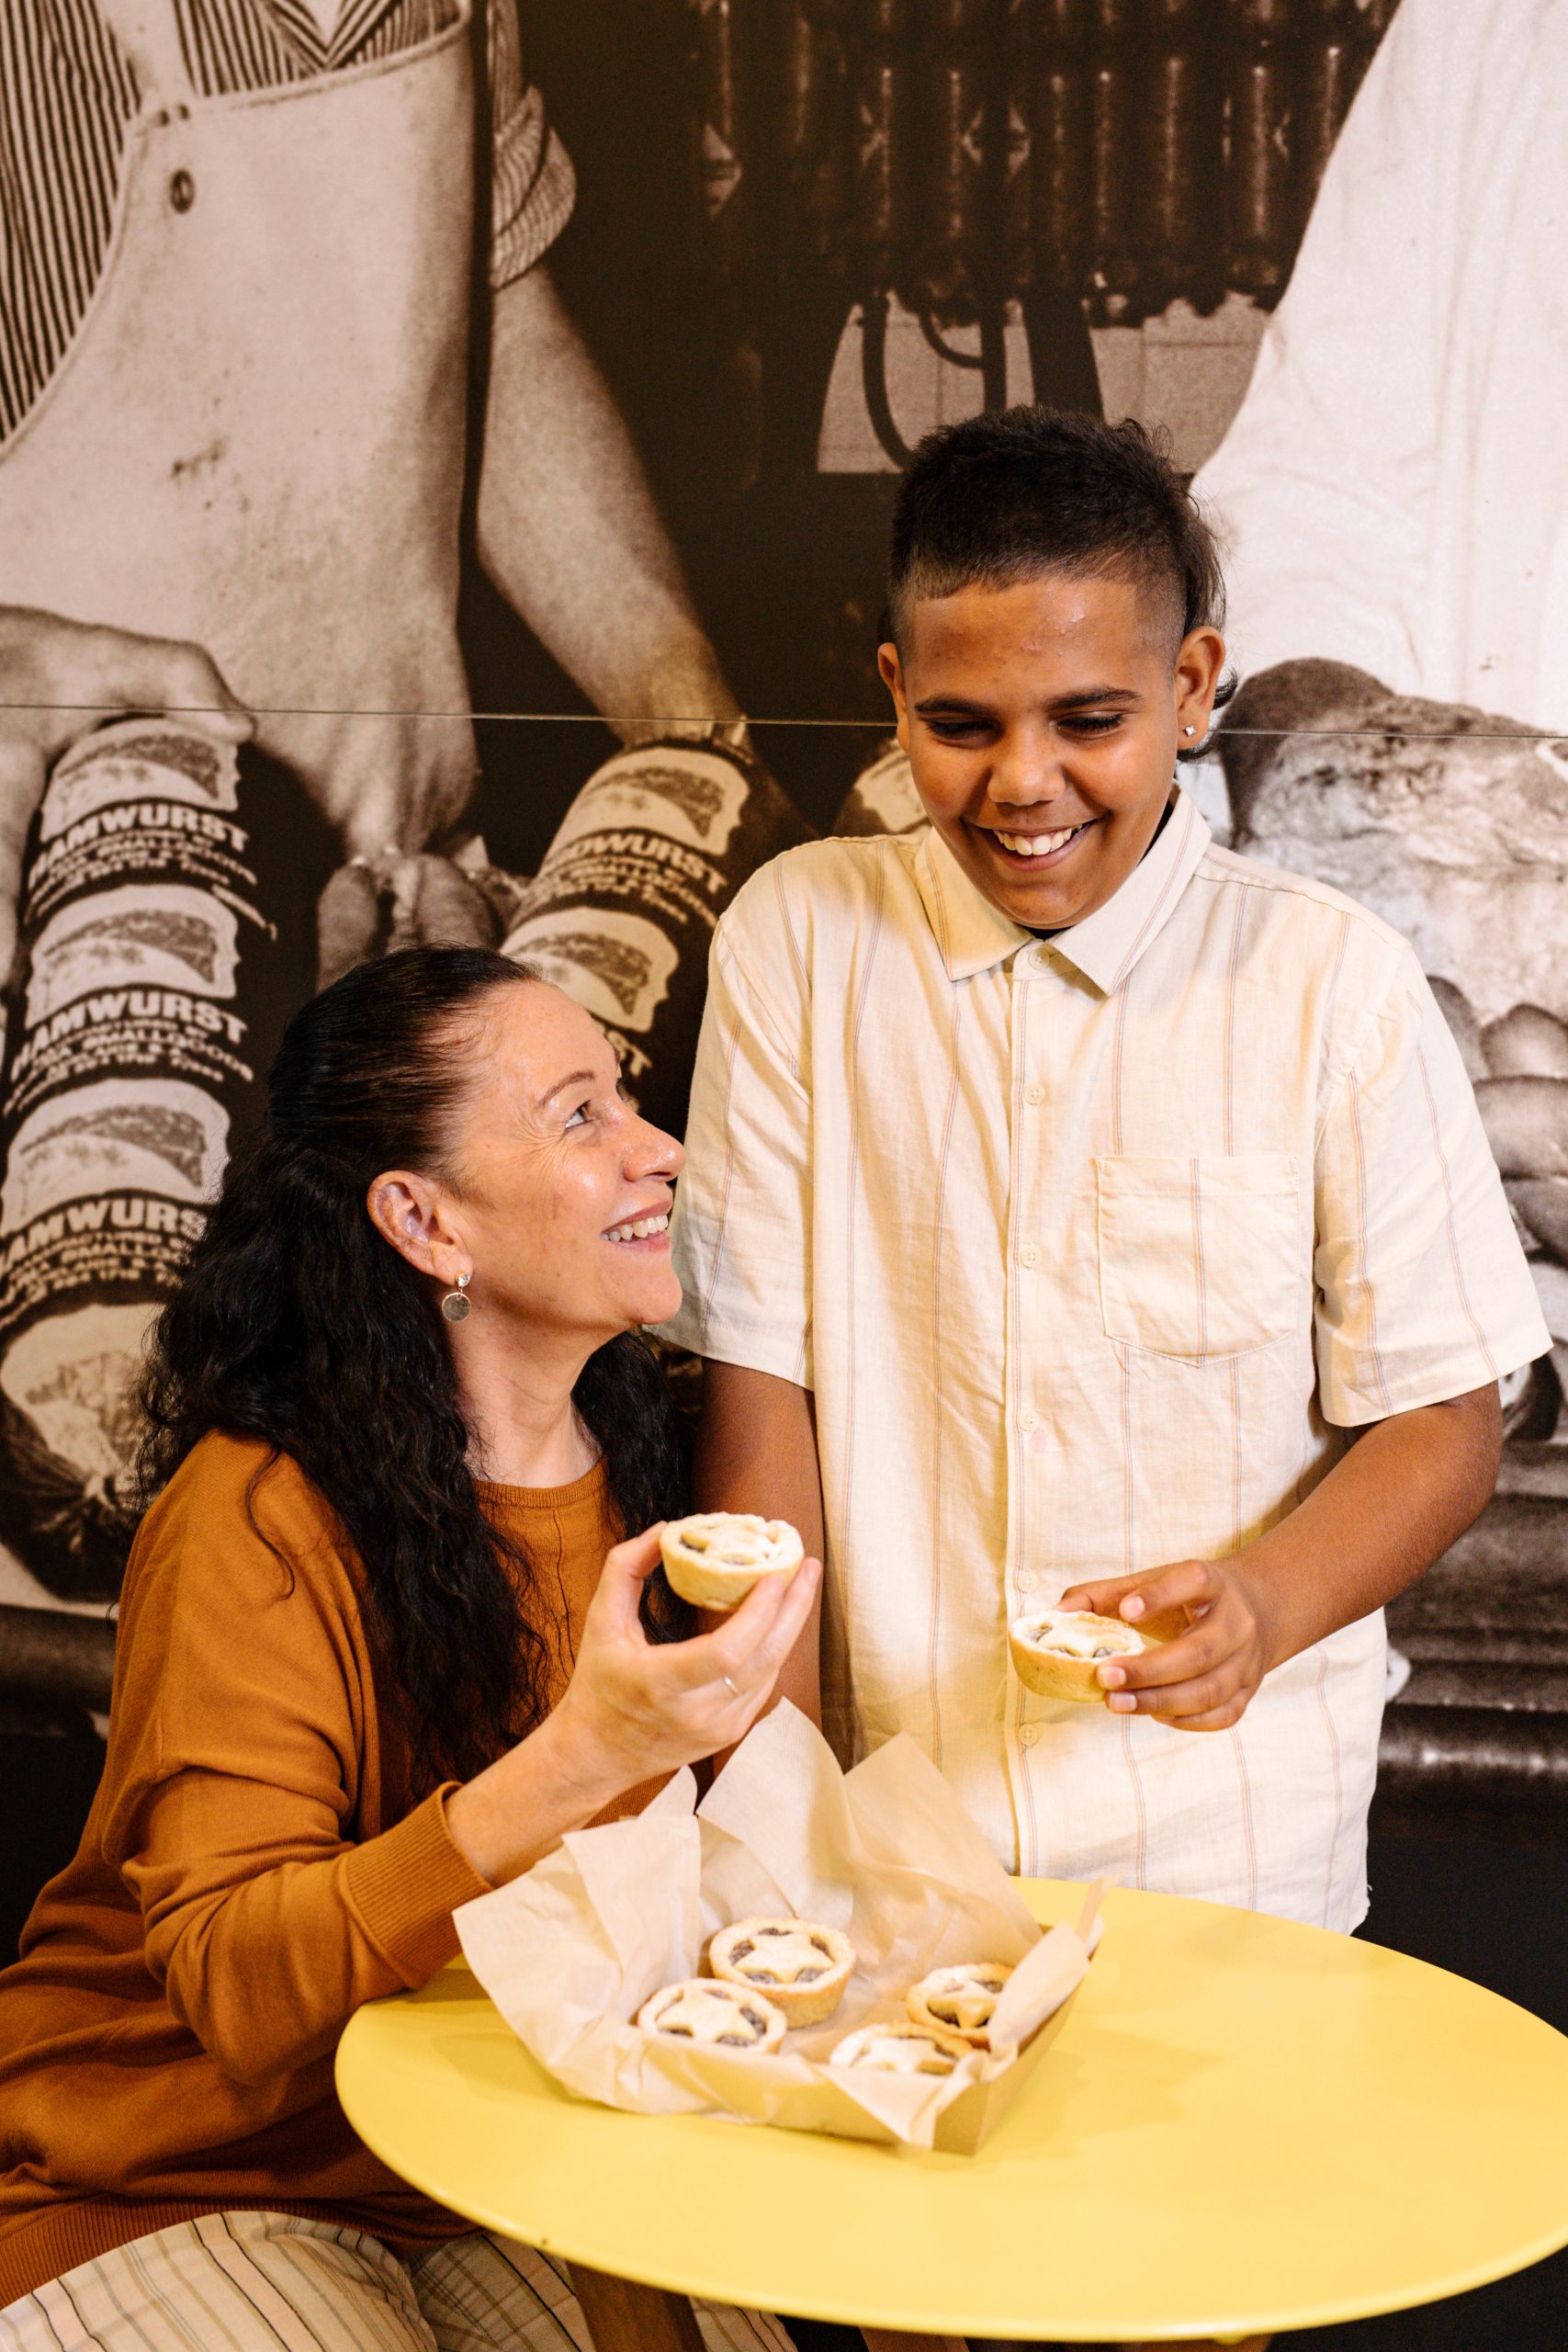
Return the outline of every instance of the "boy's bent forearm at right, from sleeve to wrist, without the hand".
[[[1396,1599],[1486,1510],[1502,1456],[1497,1390],[1371,1423],[1300,1510],[1232,1566],[1269,1628],[1269,1665]]]

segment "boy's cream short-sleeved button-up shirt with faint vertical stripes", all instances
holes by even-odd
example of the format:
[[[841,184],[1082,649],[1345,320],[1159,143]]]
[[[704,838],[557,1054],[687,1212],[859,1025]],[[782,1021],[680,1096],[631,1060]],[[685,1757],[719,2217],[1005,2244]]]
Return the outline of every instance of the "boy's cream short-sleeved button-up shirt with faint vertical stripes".
[[[1034,1698],[1006,1621],[1549,1345],[1399,934],[1185,793],[1048,941],[931,833],[813,842],[719,922],[686,1150],[670,1338],[816,1395],[839,1752],[907,1731],[1009,1867],[1354,1926],[1380,1613],[1220,1733]]]

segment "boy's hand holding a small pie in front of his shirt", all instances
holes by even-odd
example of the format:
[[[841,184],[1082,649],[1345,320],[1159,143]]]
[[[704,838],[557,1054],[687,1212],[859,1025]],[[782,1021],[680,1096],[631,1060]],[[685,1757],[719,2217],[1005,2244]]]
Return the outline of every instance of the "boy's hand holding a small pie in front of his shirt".
[[[1178,1559],[1143,1576],[1072,1585],[1060,1609],[1093,1609],[1150,1646],[1098,1668],[1105,1705],[1180,1731],[1227,1731],[1276,1663],[1262,1592],[1237,1559]]]

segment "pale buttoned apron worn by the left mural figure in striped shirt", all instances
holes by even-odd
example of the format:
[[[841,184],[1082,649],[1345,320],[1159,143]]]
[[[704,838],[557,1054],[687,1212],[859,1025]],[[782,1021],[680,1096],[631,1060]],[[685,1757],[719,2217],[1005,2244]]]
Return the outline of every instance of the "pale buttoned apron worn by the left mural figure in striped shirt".
[[[475,767],[468,12],[202,99],[172,0],[99,5],[143,101],[92,308],[0,452],[5,600],[202,644],[353,849],[418,842]]]

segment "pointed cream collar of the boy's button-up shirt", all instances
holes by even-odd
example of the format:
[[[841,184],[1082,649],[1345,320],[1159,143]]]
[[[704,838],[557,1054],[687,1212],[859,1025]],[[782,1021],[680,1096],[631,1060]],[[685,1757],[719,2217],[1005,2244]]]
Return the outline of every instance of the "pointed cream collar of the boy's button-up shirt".
[[[1211,840],[1197,800],[1178,786],[1171,816],[1117,896],[1086,915],[1084,922],[1056,931],[1051,938],[1056,953],[1074,964],[1086,981],[1112,995],[1150,941],[1164,931]],[[1011,922],[976,889],[936,828],[926,833],[917,851],[914,880],[950,981],[990,971],[1018,948],[1034,943],[1032,931]]]

